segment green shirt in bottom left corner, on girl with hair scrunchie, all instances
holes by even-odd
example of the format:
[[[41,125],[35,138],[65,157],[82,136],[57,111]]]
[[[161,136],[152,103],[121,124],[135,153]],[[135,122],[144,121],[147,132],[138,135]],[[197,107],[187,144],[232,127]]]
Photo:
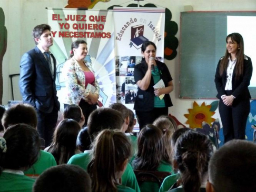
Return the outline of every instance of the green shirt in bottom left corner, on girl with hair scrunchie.
[[[0,191],[3,192],[31,192],[35,179],[29,178],[25,175],[5,173],[0,175]]]

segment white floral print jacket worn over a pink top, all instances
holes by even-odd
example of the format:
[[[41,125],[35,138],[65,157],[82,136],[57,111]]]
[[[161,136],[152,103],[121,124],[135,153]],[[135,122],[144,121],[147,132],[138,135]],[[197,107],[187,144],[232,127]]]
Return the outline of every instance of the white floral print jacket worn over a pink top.
[[[85,63],[85,65],[94,74],[92,65],[87,62]],[[64,103],[69,105],[79,105],[81,99],[87,101],[88,99],[86,97],[89,95],[90,92],[88,92],[85,89],[85,75],[82,68],[80,67],[80,65],[74,57],[66,61],[66,63],[63,66],[62,73],[67,87],[67,94]],[[100,87],[96,78],[92,85],[96,88],[95,94],[99,95]]]

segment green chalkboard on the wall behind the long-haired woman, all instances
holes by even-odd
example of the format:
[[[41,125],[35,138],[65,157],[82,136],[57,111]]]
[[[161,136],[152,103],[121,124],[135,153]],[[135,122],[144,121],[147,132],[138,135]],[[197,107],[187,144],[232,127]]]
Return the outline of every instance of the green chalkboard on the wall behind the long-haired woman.
[[[214,75],[225,53],[227,16],[256,16],[256,12],[181,13],[180,98],[216,99]],[[249,89],[256,98],[256,87]]]

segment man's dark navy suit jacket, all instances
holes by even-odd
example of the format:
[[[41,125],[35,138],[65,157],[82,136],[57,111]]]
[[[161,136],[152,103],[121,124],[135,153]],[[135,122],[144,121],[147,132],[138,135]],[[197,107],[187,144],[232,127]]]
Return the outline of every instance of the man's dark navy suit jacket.
[[[54,61],[53,76],[46,58],[37,46],[22,56],[20,65],[19,90],[23,103],[44,113],[51,113],[53,107],[60,110],[55,85],[56,59],[52,54],[51,56]]]

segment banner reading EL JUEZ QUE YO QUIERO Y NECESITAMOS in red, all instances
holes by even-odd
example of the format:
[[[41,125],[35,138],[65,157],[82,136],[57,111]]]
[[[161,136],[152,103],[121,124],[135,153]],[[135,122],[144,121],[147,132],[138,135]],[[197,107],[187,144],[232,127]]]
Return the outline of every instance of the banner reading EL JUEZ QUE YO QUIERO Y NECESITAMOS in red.
[[[115,47],[113,11],[48,8],[48,24],[54,40],[51,52],[57,60],[57,95],[63,103],[66,88],[62,67],[70,56],[71,44],[77,39],[87,42],[86,62],[92,63],[100,84],[103,106],[116,103]]]

